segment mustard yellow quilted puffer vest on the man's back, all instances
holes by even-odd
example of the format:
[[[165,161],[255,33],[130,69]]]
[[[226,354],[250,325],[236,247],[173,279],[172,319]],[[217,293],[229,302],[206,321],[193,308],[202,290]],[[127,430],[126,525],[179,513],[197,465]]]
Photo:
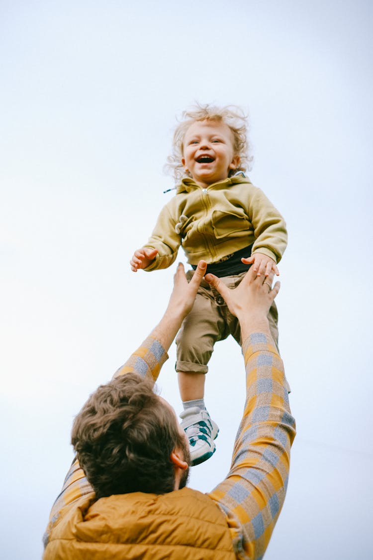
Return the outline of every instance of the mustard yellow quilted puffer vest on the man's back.
[[[83,496],[62,511],[44,560],[234,560],[223,512],[205,494]]]

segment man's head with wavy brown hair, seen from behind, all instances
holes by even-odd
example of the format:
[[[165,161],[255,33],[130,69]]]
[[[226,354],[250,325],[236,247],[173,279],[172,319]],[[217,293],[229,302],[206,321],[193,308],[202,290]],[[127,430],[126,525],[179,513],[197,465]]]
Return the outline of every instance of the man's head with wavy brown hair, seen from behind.
[[[138,374],[121,375],[89,397],[75,417],[72,444],[97,498],[171,492],[175,450],[185,466],[190,462],[172,408],[154,393],[152,382]],[[187,482],[185,466],[180,488]]]

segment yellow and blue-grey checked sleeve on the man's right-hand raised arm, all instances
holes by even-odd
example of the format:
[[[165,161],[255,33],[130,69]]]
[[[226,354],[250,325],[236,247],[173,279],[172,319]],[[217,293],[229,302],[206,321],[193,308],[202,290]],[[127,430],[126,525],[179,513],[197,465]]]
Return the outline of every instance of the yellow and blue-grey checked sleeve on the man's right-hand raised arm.
[[[209,493],[226,516],[235,554],[260,559],[285,500],[295,437],[284,366],[270,337],[243,344],[247,396],[226,479]]]

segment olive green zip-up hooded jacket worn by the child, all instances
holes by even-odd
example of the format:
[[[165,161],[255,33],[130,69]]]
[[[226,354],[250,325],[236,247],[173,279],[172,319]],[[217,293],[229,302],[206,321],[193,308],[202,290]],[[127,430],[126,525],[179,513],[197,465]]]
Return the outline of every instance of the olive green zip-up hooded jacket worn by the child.
[[[158,250],[145,270],[169,267],[180,245],[188,263],[196,265],[201,259],[216,263],[252,244],[252,254],[265,254],[276,263],[287,244],[284,218],[260,189],[243,176],[205,189],[183,179],[144,245]]]

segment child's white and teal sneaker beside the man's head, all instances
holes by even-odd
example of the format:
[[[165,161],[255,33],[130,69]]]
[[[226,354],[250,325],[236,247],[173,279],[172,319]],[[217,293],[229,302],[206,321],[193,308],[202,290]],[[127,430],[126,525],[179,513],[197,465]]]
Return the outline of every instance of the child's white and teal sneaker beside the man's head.
[[[215,453],[214,440],[218,437],[219,428],[210,418],[207,410],[191,407],[180,414],[181,427],[189,440],[191,464],[199,465]]]

